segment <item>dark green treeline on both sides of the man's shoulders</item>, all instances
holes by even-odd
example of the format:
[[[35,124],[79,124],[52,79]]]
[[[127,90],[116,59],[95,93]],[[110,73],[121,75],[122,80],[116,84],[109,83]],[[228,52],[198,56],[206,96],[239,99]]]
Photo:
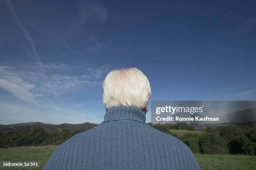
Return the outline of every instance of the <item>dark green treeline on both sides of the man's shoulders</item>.
[[[194,127],[188,126],[186,123],[177,125],[149,123],[149,125],[177,137],[193,153],[256,155],[256,127],[225,126],[217,129],[208,127],[204,133],[179,135],[171,132],[170,129],[193,131]],[[61,129],[55,133],[46,133],[43,127],[24,127],[12,132],[0,132],[0,147],[60,145],[79,132],[82,131]]]

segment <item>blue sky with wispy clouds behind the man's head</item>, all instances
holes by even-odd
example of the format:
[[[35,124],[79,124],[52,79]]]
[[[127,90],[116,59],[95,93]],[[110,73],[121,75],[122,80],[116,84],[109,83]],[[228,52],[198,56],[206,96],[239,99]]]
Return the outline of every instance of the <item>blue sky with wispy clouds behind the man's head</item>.
[[[256,100],[253,0],[2,0],[0,23],[0,124],[100,123],[130,67],[150,101]]]

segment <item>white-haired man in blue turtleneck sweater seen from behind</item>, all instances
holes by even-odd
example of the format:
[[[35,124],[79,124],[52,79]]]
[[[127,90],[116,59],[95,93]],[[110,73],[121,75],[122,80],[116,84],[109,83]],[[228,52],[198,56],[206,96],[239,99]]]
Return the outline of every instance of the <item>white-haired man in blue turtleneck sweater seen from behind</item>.
[[[60,145],[44,170],[199,170],[191,150],[145,123],[151,88],[138,69],[103,83],[104,121]]]

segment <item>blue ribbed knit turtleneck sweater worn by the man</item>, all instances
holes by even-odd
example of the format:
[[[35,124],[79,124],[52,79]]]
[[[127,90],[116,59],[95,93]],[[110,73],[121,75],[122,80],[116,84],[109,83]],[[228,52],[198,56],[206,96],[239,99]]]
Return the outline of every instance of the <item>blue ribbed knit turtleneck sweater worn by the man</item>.
[[[199,170],[187,145],[145,123],[134,107],[110,108],[97,127],[61,144],[44,170]]]

